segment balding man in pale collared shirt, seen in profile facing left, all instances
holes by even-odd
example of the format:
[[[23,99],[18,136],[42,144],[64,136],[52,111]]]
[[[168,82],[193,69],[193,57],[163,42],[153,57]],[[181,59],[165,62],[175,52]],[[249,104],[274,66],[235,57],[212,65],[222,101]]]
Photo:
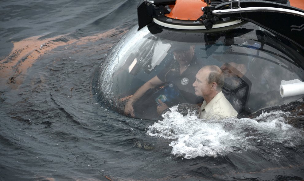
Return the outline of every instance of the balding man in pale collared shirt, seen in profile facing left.
[[[224,74],[220,67],[204,66],[197,72],[195,78],[193,83],[195,94],[204,98],[201,118],[210,119],[213,115],[219,115],[221,118],[237,116],[236,110],[222,92]]]

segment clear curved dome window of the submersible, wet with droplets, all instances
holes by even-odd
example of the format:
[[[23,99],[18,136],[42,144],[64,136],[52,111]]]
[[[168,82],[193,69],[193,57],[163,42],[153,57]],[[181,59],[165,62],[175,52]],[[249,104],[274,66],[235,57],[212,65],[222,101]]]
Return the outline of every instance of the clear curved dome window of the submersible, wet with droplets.
[[[120,113],[158,119],[163,103],[164,108],[201,105],[195,76],[203,66],[216,65],[225,76],[222,92],[238,117],[245,117],[301,97],[282,98],[279,88],[282,80],[303,81],[303,55],[294,43],[252,23],[212,33],[163,29],[151,34],[147,27],[134,27],[100,66],[98,93]]]

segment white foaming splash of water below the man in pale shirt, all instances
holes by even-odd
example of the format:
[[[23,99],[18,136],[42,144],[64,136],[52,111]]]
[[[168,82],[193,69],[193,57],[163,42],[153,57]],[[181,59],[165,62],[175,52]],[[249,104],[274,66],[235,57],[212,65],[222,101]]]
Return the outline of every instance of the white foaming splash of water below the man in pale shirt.
[[[231,152],[257,150],[260,145],[294,147],[303,142],[303,130],[286,123],[290,112],[262,113],[255,119],[230,117],[198,119],[193,113],[182,116],[177,106],[162,121],[148,126],[150,136],[173,139],[172,154],[187,159],[197,156],[225,156]]]

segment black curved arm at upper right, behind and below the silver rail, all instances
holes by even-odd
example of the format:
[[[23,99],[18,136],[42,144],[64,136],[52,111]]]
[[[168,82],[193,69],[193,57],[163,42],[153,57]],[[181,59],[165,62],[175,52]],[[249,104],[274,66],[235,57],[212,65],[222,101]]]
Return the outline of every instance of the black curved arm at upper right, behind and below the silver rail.
[[[228,9],[229,3],[222,3],[215,6],[215,9]],[[295,10],[304,13],[304,10],[298,9],[292,6],[257,0],[244,0],[241,1],[241,7],[275,7]],[[297,26],[304,26],[304,18],[292,14],[277,13],[277,12],[250,12],[250,13],[237,13],[220,15],[219,18],[229,17],[232,19],[242,19],[250,21],[256,25],[259,25],[275,34],[283,36],[294,43],[297,43],[304,49],[304,31]]]

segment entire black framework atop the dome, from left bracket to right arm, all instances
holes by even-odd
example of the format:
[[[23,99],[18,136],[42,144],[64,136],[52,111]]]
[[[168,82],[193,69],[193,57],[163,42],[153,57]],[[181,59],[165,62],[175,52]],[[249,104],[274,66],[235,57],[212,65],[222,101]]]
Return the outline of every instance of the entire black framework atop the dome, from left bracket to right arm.
[[[153,18],[160,21],[165,21],[168,24],[175,25],[205,25],[206,29],[212,29],[212,25],[216,23],[221,23],[224,18],[238,19],[244,21],[250,21],[256,25],[259,25],[275,34],[285,37],[292,42],[296,43],[298,46],[304,49],[304,18],[287,13],[277,13],[277,12],[246,12],[246,13],[233,13],[233,14],[223,14],[223,15],[213,15],[213,10],[229,9],[229,2],[221,3],[217,6],[205,7],[206,16],[198,18],[201,21],[199,24],[194,24],[193,21],[183,21],[183,20],[172,20],[171,22],[166,21],[169,19],[164,16],[164,14],[169,13],[164,7],[169,4],[173,4],[175,0],[157,0],[152,4],[150,1],[140,2],[137,6],[138,11],[138,30],[148,25],[148,27],[154,27]],[[286,1],[287,2],[287,1]],[[304,13],[304,10],[298,9],[282,3],[261,1],[261,0],[242,0],[241,8],[245,7],[274,7],[290,9],[298,12]],[[154,34],[157,28],[149,28],[149,30]],[[158,30],[161,31],[161,30]]]

